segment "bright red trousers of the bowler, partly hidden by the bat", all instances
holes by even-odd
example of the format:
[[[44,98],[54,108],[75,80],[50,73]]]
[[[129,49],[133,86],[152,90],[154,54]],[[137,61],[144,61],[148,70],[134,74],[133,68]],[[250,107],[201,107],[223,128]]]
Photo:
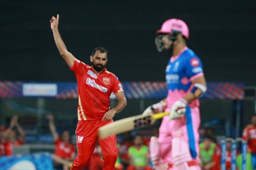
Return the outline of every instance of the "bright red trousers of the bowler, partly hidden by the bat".
[[[102,120],[78,120],[76,127],[76,145],[78,156],[73,161],[70,170],[81,170],[90,161],[90,157],[94,151],[96,140],[100,145],[104,165],[102,170],[113,170],[117,160],[117,140],[112,135],[104,139],[97,138],[98,128],[112,121]]]

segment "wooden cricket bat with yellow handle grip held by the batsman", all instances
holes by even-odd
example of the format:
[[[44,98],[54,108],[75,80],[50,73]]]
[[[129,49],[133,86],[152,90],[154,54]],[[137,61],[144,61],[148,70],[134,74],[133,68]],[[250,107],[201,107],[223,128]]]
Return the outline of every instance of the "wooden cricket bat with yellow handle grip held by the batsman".
[[[98,137],[100,139],[103,139],[111,135],[117,135],[133,129],[143,128],[147,125],[154,124],[157,119],[161,119],[165,115],[169,115],[169,112],[149,115],[136,115],[120,119],[113,123],[109,123],[105,126],[100,127],[98,130]]]

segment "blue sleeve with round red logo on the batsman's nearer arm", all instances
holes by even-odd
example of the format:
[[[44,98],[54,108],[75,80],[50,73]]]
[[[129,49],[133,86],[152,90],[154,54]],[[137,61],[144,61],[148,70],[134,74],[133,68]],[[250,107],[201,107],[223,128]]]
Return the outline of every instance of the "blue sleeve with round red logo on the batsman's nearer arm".
[[[190,81],[203,75],[203,65],[197,56],[190,56],[185,63],[185,71]]]

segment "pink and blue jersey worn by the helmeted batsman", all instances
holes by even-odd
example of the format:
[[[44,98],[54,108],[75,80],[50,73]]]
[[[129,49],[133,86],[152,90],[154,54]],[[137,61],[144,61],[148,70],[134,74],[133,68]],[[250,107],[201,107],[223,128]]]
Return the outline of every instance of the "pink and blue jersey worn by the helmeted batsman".
[[[172,56],[165,69],[168,96],[167,108],[183,98],[192,88],[192,81],[203,75],[201,60],[188,47],[183,48],[177,56]],[[190,103],[190,107],[198,107],[199,100]]]

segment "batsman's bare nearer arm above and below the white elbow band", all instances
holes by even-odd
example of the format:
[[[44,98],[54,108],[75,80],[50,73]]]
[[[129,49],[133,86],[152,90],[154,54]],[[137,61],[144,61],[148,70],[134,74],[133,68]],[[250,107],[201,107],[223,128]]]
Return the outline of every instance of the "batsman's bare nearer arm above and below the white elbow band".
[[[204,75],[194,79],[192,83],[194,85],[199,84],[206,87],[206,81],[205,81]],[[185,99],[188,103],[190,103],[194,99],[198,98],[202,93],[204,93],[204,91],[200,90],[200,88],[197,88],[194,92],[190,91],[185,97],[183,97],[183,99]]]

